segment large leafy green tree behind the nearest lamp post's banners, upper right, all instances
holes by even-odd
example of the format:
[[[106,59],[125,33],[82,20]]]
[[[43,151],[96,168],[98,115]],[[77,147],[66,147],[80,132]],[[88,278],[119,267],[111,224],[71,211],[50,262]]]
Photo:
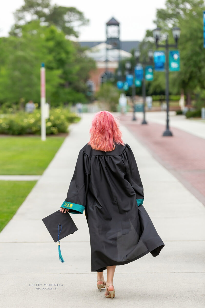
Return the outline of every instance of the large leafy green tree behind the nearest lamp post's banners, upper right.
[[[169,36],[169,43],[174,43],[171,28],[179,26],[181,36],[178,42],[180,51],[180,71],[170,72],[170,93],[180,94],[181,89],[187,96],[187,103],[191,102],[191,96],[199,93],[204,88],[204,48],[203,48],[203,0],[167,0],[165,9],[158,9],[156,13],[156,26],[162,29],[162,33]],[[161,42],[164,43],[165,35],[162,34]],[[153,44],[152,31],[148,30],[145,39]],[[154,73],[154,80],[150,91],[164,83],[161,75]],[[164,87],[164,85],[163,85]]]

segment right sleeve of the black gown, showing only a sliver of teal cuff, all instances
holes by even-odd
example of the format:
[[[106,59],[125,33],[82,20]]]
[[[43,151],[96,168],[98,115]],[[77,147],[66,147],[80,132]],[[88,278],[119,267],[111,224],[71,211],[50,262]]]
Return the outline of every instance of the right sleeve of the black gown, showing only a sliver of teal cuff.
[[[136,201],[137,205],[139,206],[142,205],[144,201],[144,189],[140,178],[140,173],[137,167],[135,156],[128,144],[126,144],[124,151],[125,151],[124,164],[126,166],[126,177],[136,193]]]

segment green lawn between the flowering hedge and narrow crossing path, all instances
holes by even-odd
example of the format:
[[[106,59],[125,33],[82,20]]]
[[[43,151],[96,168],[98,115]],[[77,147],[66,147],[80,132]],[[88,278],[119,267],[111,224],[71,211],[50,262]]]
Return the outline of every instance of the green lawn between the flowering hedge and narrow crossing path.
[[[64,137],[0,137],[0,175],[40,175],[53,159]]]

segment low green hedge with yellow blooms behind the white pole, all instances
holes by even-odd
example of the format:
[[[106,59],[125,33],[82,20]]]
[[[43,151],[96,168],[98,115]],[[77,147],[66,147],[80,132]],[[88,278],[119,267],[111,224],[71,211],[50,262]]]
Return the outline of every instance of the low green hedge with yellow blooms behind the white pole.
[[[70,123],[78,122],[80,117],[70,113],[67,109],[53,108],[49,118],[46,119],[46,134],[58,134],[68,132]],[[3,114],[0,116],[0,134],[24,135],[41,133],[41,113],[35,110],[33,113],[19,111],[15,114]]]

